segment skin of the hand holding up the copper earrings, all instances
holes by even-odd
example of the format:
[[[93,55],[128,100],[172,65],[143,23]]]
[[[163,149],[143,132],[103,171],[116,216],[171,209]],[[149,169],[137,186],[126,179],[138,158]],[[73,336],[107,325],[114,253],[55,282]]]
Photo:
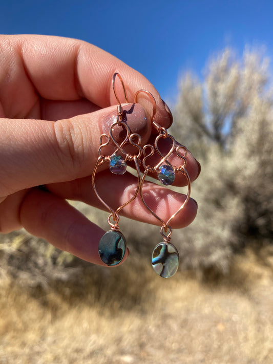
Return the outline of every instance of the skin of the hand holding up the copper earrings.
[[[2,35],[0,48],[0,231],[8,233],[24,227],[59,249],[104,265],[98,256],[104,231],[66,199],[103,208],[91,187],[91,175],[103,125],[109,115],[116,114],[114,72],[122,75],[127,91],[130,104],[124,107],[134,109],[135,93],[145,89],[155,97],[155,120],[159,125],[169,127],[171,114],[144,76],[86,42],[52,36]],[[119,82],[116,89],[123,99]],[[143,123],[138,125],[136,120],[135,131],[141,134],[142,145],[153,143],[157,134],[151,126],[149,98],[143,94],[137,101],[147,109],[147,125],[143,129]],[[170,140],[163,141],[162,151],[167,150],[168,143]],[[176,163],[177,157],[173,155],[171,160]],[[186,160],[194,181],[200,172],[199,164],[190,152]],[[109,176],[107,169],[107,165],[99,169],[96,185],[103,199],[111,206],[120,206],[134,193],[136,178],[126,173],[121,181]],[[109,194],[109,183],[113,194]],[[185,185],[182,175],[176,185]],[[152,182],[145,182],[143,191],[146,202],[163,220],[185,198]],[[190,224],[196,212],[197,204],[190,199],[172,227]],[[139,196],[120,215],[160,225]]]

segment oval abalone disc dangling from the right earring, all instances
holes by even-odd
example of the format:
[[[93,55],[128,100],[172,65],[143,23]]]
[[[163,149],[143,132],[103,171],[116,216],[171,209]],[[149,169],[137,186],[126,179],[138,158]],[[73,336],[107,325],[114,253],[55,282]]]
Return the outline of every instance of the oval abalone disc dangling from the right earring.
[[[176,247],[170,243],[159,243],[152,254],[154,271],[163,278],[173,276],[179,266],[179,254]]]

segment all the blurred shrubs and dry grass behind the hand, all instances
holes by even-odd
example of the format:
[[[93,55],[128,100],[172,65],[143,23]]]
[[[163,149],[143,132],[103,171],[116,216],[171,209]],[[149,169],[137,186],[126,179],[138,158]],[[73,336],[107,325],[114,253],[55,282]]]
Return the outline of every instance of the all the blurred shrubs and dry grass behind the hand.
[[[225,49],[202,81],[181,78],[171,134],[202,170],[171,280],[150,266],[158,227],[123,218],[131,254],[114,269],[1,235],[0,363],[273,362],[272,91],[261,50]],[[107,213],[73,204],[107,229]]]

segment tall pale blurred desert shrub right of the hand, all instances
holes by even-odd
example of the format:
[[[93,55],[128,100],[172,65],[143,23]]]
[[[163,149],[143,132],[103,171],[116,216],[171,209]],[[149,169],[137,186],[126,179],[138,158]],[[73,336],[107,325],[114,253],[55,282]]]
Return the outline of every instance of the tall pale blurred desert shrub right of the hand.
[[[261,52],[240,58],[226,49],[209,62],[203,81],[192,73],[181,80],[172,132],[202,165],[193,186],[199,213],[180,232],[185,268],[228,272],[235,252],[272,243],[268,66]]]

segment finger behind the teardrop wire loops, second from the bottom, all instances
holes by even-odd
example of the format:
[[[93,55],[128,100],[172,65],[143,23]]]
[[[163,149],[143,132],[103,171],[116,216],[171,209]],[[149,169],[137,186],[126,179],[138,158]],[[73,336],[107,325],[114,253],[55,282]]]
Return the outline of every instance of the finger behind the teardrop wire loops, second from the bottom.
[[[116,210],[134,196],[137,190],[137,178],[130,173],[114,176],[108,170],[104,170],[95,176],[95,187],[102,200]],[[82,201],[106,210],[92,188],[90,176],[71,182],[50,184],[47,188],[61,198]],[[143,196],[147,205],[165,222],[185,201],[184,194],[152,182],[144,182]],[[197,203],[190,199],[173,220],[172,227],[183,228],[191,224],[196,213]],[[161,225],[161,222],[144,206],[139,195],[120,211],[120,215],[148,224]]]

